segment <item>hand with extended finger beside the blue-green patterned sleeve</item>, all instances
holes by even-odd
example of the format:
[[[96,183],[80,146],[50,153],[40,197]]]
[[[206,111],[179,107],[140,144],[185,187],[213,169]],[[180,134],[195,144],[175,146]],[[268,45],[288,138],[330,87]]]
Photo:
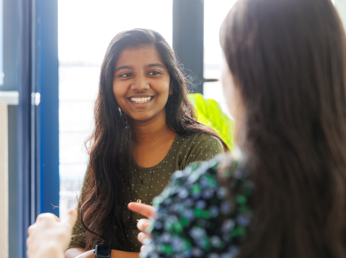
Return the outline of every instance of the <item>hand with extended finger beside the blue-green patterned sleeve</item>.
[[[130,202],[127,207],[129,210],[132,210],[133,212],[137,212],[142,214],[143,216],[146,216],[148,218],[155,218],[156,216],[156,209],[150,205],[143,204],[143,203],[137,203],[137,202]],[[151,235],[148,234],[148,232],[151,230],[152,223],[149,219],[142,218],[139,219],[139,222],[137,223],[137,228],[141,231],[137,239],[140,243],[145,244],[146,239],[150,239]],[[141,251],[145,248],[145,245],[142,245],[140,248]]]

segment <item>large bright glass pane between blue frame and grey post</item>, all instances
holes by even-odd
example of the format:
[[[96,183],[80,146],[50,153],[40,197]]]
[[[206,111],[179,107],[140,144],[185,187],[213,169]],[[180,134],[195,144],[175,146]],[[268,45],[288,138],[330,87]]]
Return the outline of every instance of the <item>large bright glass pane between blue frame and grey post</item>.
[[[87,167],[100,65],[118,32],[150,28],[172,43],[172,0],[59,0],[60,214],[76,205]],[[135,8],[134,8],[135,7]]]

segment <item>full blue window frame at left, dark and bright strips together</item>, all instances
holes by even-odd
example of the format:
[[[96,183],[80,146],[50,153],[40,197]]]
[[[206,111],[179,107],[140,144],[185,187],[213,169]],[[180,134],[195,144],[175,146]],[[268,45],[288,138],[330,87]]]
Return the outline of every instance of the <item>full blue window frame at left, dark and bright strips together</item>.
[[[17,3],[17,254],[24,258],[36,216],[59,215],[58,0]]]

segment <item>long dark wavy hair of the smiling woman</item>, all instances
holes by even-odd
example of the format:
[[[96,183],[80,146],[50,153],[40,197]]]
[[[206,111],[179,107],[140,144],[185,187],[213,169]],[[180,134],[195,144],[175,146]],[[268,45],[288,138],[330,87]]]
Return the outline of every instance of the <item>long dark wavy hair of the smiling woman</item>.
[[[150,29],[132,29],[111,40],[101,66],[99,92],[95,103],[95,128],[90,137],[88,185],[80,198],[80,219],[86,229],[86,249],[109,244],[112,249],[130,249],[126,241],[119,194],[129,180],[130,124],[112,91],[114,66],[127,48],[155,47],[168,68],[173,94],[166,104],[167,124],[177,134],[206,134],[224,141],[209,127],[196,121],[187,100],[186,79],[172,48],[162,35]],[[129,196],[129,200],[131,200]]]

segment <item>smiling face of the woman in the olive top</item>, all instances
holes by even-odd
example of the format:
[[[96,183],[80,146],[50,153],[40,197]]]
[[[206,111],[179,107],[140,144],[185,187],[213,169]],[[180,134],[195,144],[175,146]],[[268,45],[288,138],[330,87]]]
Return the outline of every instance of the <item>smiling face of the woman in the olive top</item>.
[[[170,77],[152,46],[124,50],[114,68],[113,93],[123,112],[135,121],[165,115]]]

